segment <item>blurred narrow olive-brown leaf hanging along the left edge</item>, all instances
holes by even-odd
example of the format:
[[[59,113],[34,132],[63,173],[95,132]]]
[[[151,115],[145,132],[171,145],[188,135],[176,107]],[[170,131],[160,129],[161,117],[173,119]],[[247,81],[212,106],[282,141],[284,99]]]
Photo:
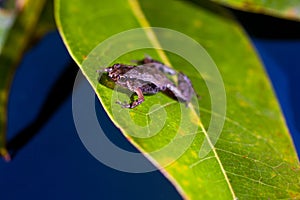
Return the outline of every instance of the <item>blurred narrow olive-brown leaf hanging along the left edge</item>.
[[[8,32],[0,54],[0,155],[6,160],[10,159],[5,148],[9,89],[23,53],[32,44],[32,37],[45,2],[26,1]]]

